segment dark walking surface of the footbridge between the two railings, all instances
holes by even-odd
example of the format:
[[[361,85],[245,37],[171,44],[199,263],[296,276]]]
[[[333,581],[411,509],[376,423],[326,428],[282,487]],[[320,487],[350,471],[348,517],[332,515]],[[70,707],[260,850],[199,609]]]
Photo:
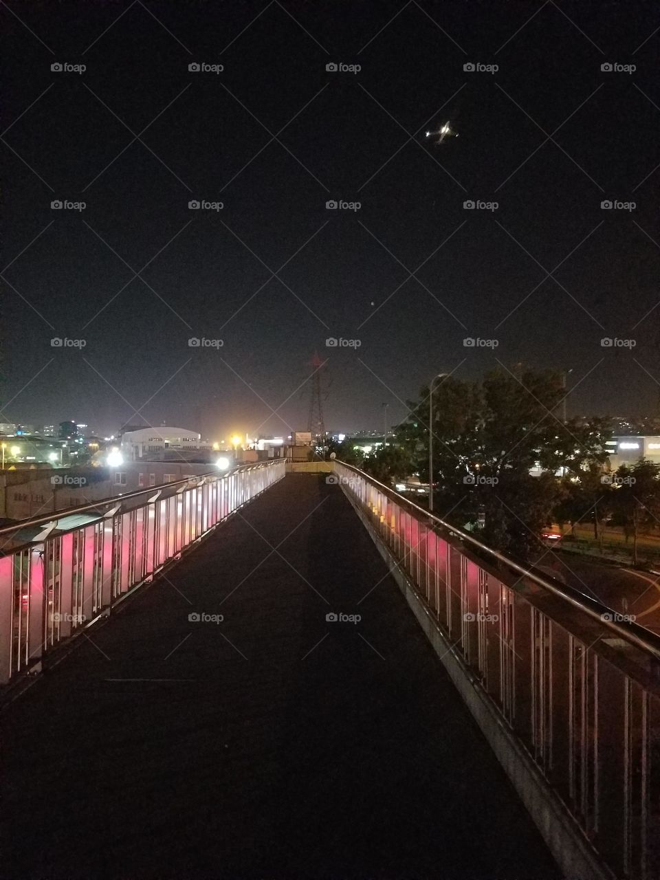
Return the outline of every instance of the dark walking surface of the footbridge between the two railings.
[[[322,477],[240,510],[3,727],[3,877],[561,876]]]

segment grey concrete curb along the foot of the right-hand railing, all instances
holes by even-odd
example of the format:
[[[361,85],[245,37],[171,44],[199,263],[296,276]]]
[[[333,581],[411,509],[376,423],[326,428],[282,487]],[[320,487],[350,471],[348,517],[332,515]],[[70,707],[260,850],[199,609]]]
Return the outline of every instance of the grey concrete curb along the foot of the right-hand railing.
[[[387,563],[392,577],[406,598],[426,637],[429,639],[451,681],[466,703],[474,720],[480,727],[488,744],[495,752],[505,773],[509,776],[518,796],[524,803],[534,824],[539,829],[547,847],[559,865],[567,880],[615,880],[612,871],[600,860],[598,853],[590,847],[583,833],[576,827],[568,810],[561,803],[534,765],[532,759],[517,742],[506,724],[496,714],[488,695],[484,693],[480,682],[466,667],[463,660],[446,640],[436,621],[433,620],[422,598],[418,595],[399,562],[392,555],[378,532],[373,528],[368,517],[356,505],[348,492],[341,487],[353,510],[356,511],[378,552]]]

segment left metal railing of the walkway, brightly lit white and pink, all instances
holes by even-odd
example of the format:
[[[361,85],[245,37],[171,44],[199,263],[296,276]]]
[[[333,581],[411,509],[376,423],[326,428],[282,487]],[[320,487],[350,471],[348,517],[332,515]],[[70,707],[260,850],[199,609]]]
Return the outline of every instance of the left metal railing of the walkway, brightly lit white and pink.
[[[240,466],[0,529],[0,684],[39,664],[283,476],[283,459]]]

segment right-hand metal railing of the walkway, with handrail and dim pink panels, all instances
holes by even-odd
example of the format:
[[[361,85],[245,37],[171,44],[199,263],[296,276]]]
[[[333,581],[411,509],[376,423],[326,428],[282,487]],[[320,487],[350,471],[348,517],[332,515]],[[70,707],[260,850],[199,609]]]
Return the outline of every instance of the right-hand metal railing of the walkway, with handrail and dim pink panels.
[[[660,877],[660,637],[355,467],[342,488],[614,876]]]

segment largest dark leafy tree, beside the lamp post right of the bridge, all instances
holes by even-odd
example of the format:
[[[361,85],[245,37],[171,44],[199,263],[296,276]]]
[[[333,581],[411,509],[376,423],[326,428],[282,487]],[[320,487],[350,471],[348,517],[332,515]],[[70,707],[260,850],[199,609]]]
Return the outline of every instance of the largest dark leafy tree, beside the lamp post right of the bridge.
[[[434,510],[465,527],[483,523],[491,546],[528,556],[561,501],[555,473],[602,473],[605,425],[563,424],[555,414],[565,391],[561,375],[491,370],[481,382],[449,377],[411,403],[398,431],[422,480],[429,480],[429,428],[433,429]],[[537,474],[530,473],[532,469]]]

